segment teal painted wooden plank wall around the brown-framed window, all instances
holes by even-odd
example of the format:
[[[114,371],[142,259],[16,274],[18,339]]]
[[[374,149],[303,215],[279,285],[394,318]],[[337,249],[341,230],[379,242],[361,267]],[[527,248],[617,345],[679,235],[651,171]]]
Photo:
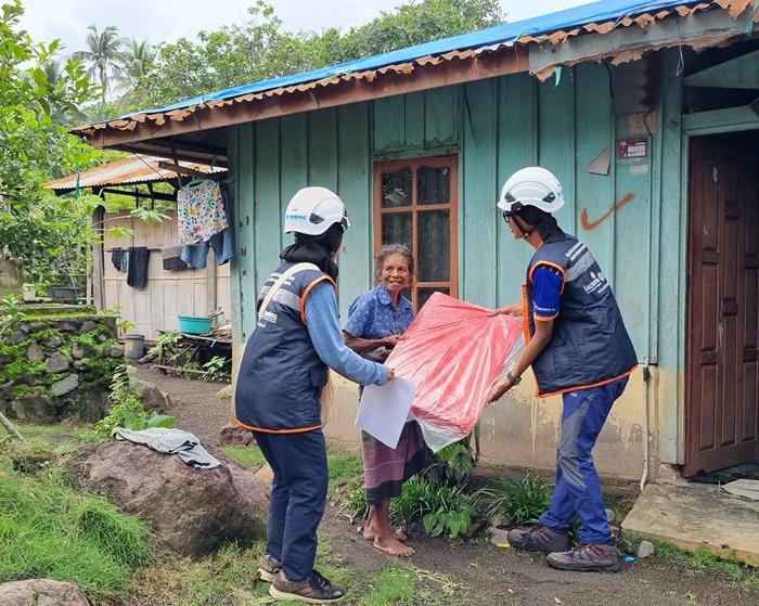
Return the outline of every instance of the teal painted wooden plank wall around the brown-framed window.
[[[351,228],[338,258],[345,319],[349,302],[372,286],[374,160],[453,152],[460,156],[459,296],[485,307],[519,299],[532,249],[511,235],[496,201],[512,172],[540,164],[562,181],[567,205],[558,222],[588,244],[612,281],[639,359],[658,361],[659,332],[652,325],[661,306],[654,297],[678,297],[653,289],[658,263],[666,275],[681,271],[680,259],[658,253],[659,216],[679,216],[680,207],[652,203],[654,184],[657,199],[665,196],[655,180],[662,171],[661,139],[641,133],[634,116],[615,115],[613,73],[583,64],[545,82],[518,74],[231,129],[240,252],[233,266],[235,340],[255,325],[256,294],[292,242],[282,233],[282,215],[294,192],[324,185],[348,206]],[[648,157],[617,159],[617,141],[628,137],[646,139]],[[604,152],[610,154],[608,173],[589,172]],[[671,312],[679,304],[662,307]],[[677,363],[678,356],[670,357]]]

